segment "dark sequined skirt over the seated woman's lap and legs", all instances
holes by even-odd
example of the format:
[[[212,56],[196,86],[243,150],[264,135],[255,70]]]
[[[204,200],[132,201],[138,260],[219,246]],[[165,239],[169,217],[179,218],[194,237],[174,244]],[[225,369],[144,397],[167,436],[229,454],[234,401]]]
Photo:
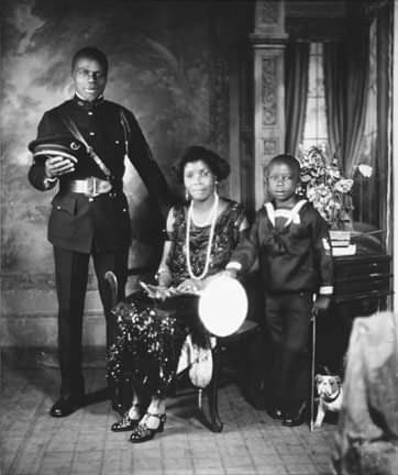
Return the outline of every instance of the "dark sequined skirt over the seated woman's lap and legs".
[[[118,335],[108,356],[108,375],[118,384],[134,384],[150,395],[165,397],[173,388],[178,358],[188,333],[209,347],[198,318],[198,297],[164,302],[136,292],[118,303]],[[124,383],[123,383],[124,382]]]

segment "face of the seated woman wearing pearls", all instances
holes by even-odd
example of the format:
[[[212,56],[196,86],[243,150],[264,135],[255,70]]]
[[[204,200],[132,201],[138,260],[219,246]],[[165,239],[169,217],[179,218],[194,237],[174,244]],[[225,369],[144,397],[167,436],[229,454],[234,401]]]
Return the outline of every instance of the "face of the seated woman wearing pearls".
[[[189,162],[184,168],[184,185],[192,200],[206,201],[214,192],[215,176],[204,162]]]

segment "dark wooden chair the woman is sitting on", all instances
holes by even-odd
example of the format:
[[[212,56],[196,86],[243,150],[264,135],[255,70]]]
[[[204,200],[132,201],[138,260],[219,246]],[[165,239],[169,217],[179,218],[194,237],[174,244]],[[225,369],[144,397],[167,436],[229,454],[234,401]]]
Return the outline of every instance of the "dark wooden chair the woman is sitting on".
[[[129,270],[129,276],[139,276],[143,274],[152,274],[153,269],[148,268],[135,268]],[[106,280],[109,285],[110,290],[110,307],[113,308],[118,303],[118,279],[113,272],[109,270],[104,275]],[[212,358],[213,358],[213,373],[210,384],[204,388],[208,399],[208,412],[207,416],[203,405],[202,405],[202,393],[201,388],[195,388],[197,396],[197,417],[200,422],[207,427],[212,432],[221,432],[223,429],[223,423],[220,419],[219,415],[219,384],[220,377],[222,373],[222,353],[228,349],[228,346],[232,343],[236,343],[239,341],[243,341],[246,339],[253,338],[255,334],[259,332],[259,325],[250,320],[245,320],[242,327],[232,335],[225,338],[217,338],[215,346],[212,349]],[[181,375],[178,375],[181,377]]]

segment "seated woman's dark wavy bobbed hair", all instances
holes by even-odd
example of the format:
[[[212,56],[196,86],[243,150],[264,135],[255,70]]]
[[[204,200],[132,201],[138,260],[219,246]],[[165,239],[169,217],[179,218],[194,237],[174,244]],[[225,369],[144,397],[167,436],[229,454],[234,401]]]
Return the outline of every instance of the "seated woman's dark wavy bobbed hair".
[[[218,180],[222,180],[230,175],[230,164],[221,158],[215,152],[200,145],[188,147],[183,156],[174,165],[179,181],[184,183],[184,169],[188,163],[204,162]]]

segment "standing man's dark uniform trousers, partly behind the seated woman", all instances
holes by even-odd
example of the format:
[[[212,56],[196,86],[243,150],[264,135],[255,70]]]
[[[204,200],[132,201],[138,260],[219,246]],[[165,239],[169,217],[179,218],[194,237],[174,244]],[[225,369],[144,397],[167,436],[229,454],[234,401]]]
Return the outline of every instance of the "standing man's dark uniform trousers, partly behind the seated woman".
[[[104,274],[113,270],[118,277],[119,298],[124,297],[129,248],[109,253],[91,253],[107,323],[107,347],[113,341],[114,318],[110,313],[109,292]],[[60,396],[78,398],[84,395],[81,373],[82,314],[88,279],[89,254],[54,247],[55,280],[58,297],[58,358]]]

